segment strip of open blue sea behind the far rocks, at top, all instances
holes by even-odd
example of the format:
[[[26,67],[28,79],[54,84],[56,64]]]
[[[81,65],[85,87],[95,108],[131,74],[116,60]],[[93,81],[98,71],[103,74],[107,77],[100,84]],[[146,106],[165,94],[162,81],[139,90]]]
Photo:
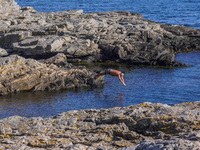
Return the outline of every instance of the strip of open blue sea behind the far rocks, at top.
[[[167,24],[200,28],[199,0],[16,0],[40,12],[82,9],[88,12],[131,11]]]

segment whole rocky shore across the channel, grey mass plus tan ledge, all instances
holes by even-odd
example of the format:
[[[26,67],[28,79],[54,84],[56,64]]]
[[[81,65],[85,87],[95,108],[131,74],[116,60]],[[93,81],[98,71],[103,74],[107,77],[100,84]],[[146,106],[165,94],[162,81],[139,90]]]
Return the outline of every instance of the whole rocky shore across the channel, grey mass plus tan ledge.
[[[103,78],[94,80],[94,71],[70,63],[183,67],[175,54],[199,49],[199,30],[136,13],[44,13],[0,1],[0,95],[103,85]]]

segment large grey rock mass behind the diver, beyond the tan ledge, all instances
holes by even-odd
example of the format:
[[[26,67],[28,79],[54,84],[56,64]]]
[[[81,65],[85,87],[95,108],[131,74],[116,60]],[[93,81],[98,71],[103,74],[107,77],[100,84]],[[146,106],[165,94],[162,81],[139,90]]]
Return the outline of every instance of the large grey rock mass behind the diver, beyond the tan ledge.
[[[156,23],[131,12],[41,13],[25,7],[1,21],[0,46],[9,54],[37,59],[62,52],[69,62],[182,66],[176,52],[200,49],[199,30]]]

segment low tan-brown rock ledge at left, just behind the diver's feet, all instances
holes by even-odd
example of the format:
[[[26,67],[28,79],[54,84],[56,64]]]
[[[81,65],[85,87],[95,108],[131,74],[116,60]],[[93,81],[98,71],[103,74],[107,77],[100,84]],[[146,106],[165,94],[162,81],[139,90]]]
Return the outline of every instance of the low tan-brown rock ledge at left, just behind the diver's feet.
[[[66,56],[63,55],[58,54],[45,60],[46,64],[17,55],[0,58],[0,95],[19,91],[94,87],[103,84],[102,78],[94,80],[95,74],[86,68],[75,68],[66,63]]]

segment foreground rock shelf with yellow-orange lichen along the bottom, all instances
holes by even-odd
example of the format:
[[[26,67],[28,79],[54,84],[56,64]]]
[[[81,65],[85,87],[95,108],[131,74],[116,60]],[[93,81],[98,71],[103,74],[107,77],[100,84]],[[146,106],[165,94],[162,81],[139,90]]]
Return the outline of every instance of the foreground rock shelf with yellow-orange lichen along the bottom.
[[[200,102],[142,103],[0,120],[0,148],[161,150],[200,148]]]

